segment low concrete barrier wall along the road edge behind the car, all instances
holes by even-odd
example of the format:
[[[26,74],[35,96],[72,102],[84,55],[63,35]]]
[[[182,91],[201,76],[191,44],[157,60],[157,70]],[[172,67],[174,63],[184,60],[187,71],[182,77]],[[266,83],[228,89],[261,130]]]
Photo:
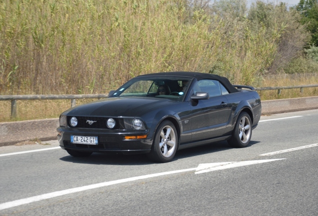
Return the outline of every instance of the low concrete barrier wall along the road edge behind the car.
[[[318,109],[318,96],[261,101],[262,115]],[[56,139],[58,118],[0,122],[0,146],[39,139]]]

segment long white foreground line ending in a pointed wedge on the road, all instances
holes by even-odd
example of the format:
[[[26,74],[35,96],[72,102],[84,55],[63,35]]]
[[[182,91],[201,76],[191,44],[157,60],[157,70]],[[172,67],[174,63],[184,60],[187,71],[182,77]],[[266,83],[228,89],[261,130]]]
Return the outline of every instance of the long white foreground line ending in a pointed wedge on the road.
[[[206,164],[199,164],[196,168],[187,168],[187,169],[180,169],[180,170],[174,170],[174,171],[166,171],[166,172],[160,172],[160,173],[154,173],[154,174],[147,174],[147,175],[141,175],[136,177],[129,177],[129,178],[123,178],[119,180],[112,180],[112,181],[106,181],[96,184],[90,184],[86,186],[80,186],[80,187],[74,187],[70,189],[45,193],[42,195],[36,195],[31,196],[28,198],[22,198],[14,201],[8,201],[0,204],[0,210],[10,208],[10,207],[16,207],[22,204],[27,204],[35,201],[40,201],[48,198],[53,198],[61,195],[66,195],[70,193],[75,193],[79,191],[89,190],[89,189],[95,189],[99,187],[109,186],[113,184],[119,184],[129,181],[135,181],[145,178],[151,178],[151,177],[157,177],[162,175],[168,175],[168,174],[174,174],[174,173],[180,173],[180,172],[187,172],[187,171],[196,171],[195,174],[209,172],[209,171],[215,171],[215,170],[221,170],[226,168],[233,168],[238,166],[244,166],[244,165],[250,165],[250,164],[256,164],[256,163],[263,163],[263,162],[269,162],[274,160],[281,160],[281,159],[269,159],[269,160],[250,160],[250,161],[241,161],[241,162],[219,162],[219,163],[206,163]]]

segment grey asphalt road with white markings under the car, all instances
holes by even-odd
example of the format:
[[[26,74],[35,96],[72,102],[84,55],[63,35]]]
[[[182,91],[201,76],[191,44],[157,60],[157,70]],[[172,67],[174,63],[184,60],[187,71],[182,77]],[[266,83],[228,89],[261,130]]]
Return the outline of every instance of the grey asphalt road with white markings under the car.
[[[248,147],[217,142],[169,163],[3,146],[0,215],[318,215],[317,122],[317,109],[262,116]]]

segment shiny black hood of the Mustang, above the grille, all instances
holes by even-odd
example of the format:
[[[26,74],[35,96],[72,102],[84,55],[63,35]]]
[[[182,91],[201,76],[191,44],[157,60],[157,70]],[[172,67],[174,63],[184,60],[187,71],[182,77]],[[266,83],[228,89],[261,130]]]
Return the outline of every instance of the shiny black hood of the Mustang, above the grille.
[[[75,116],[140,116],[177,101],[154,97],[110,97],[75,106],[63,114]]]

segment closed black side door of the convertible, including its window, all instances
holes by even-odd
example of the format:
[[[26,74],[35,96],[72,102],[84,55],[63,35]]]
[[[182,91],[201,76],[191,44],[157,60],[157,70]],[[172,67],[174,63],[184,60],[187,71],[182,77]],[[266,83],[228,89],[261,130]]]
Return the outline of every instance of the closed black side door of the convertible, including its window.
[[[195,91],[208,92],[208,99],[191,101],[192,141],[221,136],[229,115],[229,104],[217,80],[202,79],[194,84]]]

